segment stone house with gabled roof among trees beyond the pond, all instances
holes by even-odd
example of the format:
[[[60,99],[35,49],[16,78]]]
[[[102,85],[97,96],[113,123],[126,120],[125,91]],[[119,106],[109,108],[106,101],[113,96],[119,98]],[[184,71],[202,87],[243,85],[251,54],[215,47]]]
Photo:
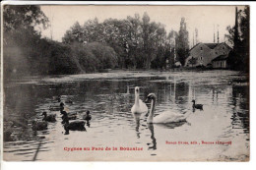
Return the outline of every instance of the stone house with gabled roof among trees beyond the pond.
[[[212,66],[220,55],[227,55],[231,48],[225,43],[198,43],[189,50],[185,67]]]

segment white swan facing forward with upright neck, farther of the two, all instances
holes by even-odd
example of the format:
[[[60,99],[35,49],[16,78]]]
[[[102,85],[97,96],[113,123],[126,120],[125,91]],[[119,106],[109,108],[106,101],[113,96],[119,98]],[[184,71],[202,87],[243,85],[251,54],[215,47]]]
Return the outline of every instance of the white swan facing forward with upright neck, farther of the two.
[[[148,107],[145,104],[145,102],[143,102],[140,99],[140,88],[139,86],[135,87],[135,103],[131,109],[133,114],[142,114],[142,113],[147,113],[148,112]]]

